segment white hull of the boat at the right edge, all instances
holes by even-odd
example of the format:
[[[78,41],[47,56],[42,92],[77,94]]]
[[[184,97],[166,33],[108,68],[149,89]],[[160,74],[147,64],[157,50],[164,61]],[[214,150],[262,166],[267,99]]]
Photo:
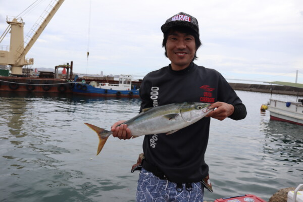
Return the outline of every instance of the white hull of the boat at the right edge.
[[[287,107],[289,105],[289,107]],[[303,104],[270,99],[267,105],[271,119],[303,125]]]

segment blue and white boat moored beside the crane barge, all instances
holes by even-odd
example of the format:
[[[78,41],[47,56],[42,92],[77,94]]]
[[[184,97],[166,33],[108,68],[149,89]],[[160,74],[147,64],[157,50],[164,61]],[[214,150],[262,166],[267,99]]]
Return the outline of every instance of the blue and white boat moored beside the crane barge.
[[[120,75],[119,84],[97,83],[95,81],[90,82],[90,84],[75,82],[72,91],[75,94],[91,96],[139,97],[139,89],[131,84],[131,75]]]

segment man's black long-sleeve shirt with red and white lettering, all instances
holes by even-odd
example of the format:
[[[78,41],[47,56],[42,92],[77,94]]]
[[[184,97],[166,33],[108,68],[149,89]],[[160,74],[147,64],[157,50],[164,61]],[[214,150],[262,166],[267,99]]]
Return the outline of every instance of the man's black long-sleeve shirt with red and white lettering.
[[[169,66],[148,73],[140,86],[141,108],[181,102],[224,102],[234,106],[229,117],[240,120],[246,108],[224,77],[214,69],[191,63],[173,71]],[[143,153],[148,163],[157,166],[173,182],[197,182],[208,175],[204,156],[209,139],[210,118],[171,134],[145,135]]]

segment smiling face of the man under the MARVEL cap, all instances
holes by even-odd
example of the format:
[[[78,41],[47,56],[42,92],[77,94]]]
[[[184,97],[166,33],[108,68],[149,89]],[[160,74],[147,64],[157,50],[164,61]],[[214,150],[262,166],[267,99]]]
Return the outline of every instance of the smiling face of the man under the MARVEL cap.
[[[173,70],[182,70],[188,67],[195,54],[194,36],[174,31],[168,35],[166,53],[172,62]]]

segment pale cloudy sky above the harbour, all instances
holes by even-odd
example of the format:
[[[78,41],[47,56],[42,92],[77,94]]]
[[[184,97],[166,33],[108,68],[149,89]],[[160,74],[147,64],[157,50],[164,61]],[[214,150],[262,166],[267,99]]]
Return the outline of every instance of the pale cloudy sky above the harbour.
[[[0,34],[6,16],[34,2],[38,6],[21,15],[24,35],[51,0],[0,0]],[[32,68],[73,61],[75,73],[143,77],[170,64],[160,27],[179,12],[198,20],[197,65],[235,81],[295,82],[298,70],[303,83],[301,0],[65,0],[26,58],[34,59]],[[10,34],[0,45],[9,43]]]

